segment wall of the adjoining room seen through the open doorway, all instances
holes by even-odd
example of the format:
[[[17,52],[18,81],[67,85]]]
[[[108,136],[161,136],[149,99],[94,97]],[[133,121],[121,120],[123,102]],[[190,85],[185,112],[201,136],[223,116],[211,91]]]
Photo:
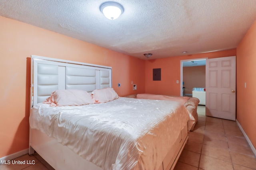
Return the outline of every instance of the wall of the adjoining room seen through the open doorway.
[[[192,88],[205,88],[205,66],[183,67],[185,94],[192,95]]]

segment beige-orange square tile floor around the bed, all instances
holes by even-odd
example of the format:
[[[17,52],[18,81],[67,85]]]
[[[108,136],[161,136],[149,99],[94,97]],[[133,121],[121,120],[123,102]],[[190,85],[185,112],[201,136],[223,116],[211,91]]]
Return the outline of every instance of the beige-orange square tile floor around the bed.
[[[256,157],[235,121],[207,117],[198,106],[198,122],[188,136],[174,170],[256,170]],[[0,164],[0,170],[54,170],[39,155],[14,160],[34,164]]]

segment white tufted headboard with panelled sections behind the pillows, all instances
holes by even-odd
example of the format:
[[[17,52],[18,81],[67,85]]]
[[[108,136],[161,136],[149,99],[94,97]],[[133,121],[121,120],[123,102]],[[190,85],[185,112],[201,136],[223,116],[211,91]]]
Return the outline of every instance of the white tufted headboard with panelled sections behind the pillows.
[[[88,93],[112,87],[112,68],[74,61],[31,56],[31,108],[52,91],[80,89]]]

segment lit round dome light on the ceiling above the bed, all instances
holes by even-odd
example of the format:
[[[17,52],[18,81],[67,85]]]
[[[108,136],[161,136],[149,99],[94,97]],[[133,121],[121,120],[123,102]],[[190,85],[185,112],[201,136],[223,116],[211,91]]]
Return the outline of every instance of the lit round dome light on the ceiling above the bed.
[[[100,5],[100,11],[106,18],[115,20],[124,12],[124,7],[116,2],[104,2]]]

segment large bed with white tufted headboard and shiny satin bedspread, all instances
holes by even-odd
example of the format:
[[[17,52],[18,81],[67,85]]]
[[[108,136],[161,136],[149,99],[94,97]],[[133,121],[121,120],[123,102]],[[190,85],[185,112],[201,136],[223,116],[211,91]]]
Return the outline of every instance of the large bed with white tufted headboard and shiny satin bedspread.
[[[188,140],[183,104],[96,100],[98,92],[113,92],[111,67],[32,56],[31,70],[29,154],[36,151],[56,170],[174,168]],[[74,90],[95,96],[94,102],[48,104],[57,92]]]

